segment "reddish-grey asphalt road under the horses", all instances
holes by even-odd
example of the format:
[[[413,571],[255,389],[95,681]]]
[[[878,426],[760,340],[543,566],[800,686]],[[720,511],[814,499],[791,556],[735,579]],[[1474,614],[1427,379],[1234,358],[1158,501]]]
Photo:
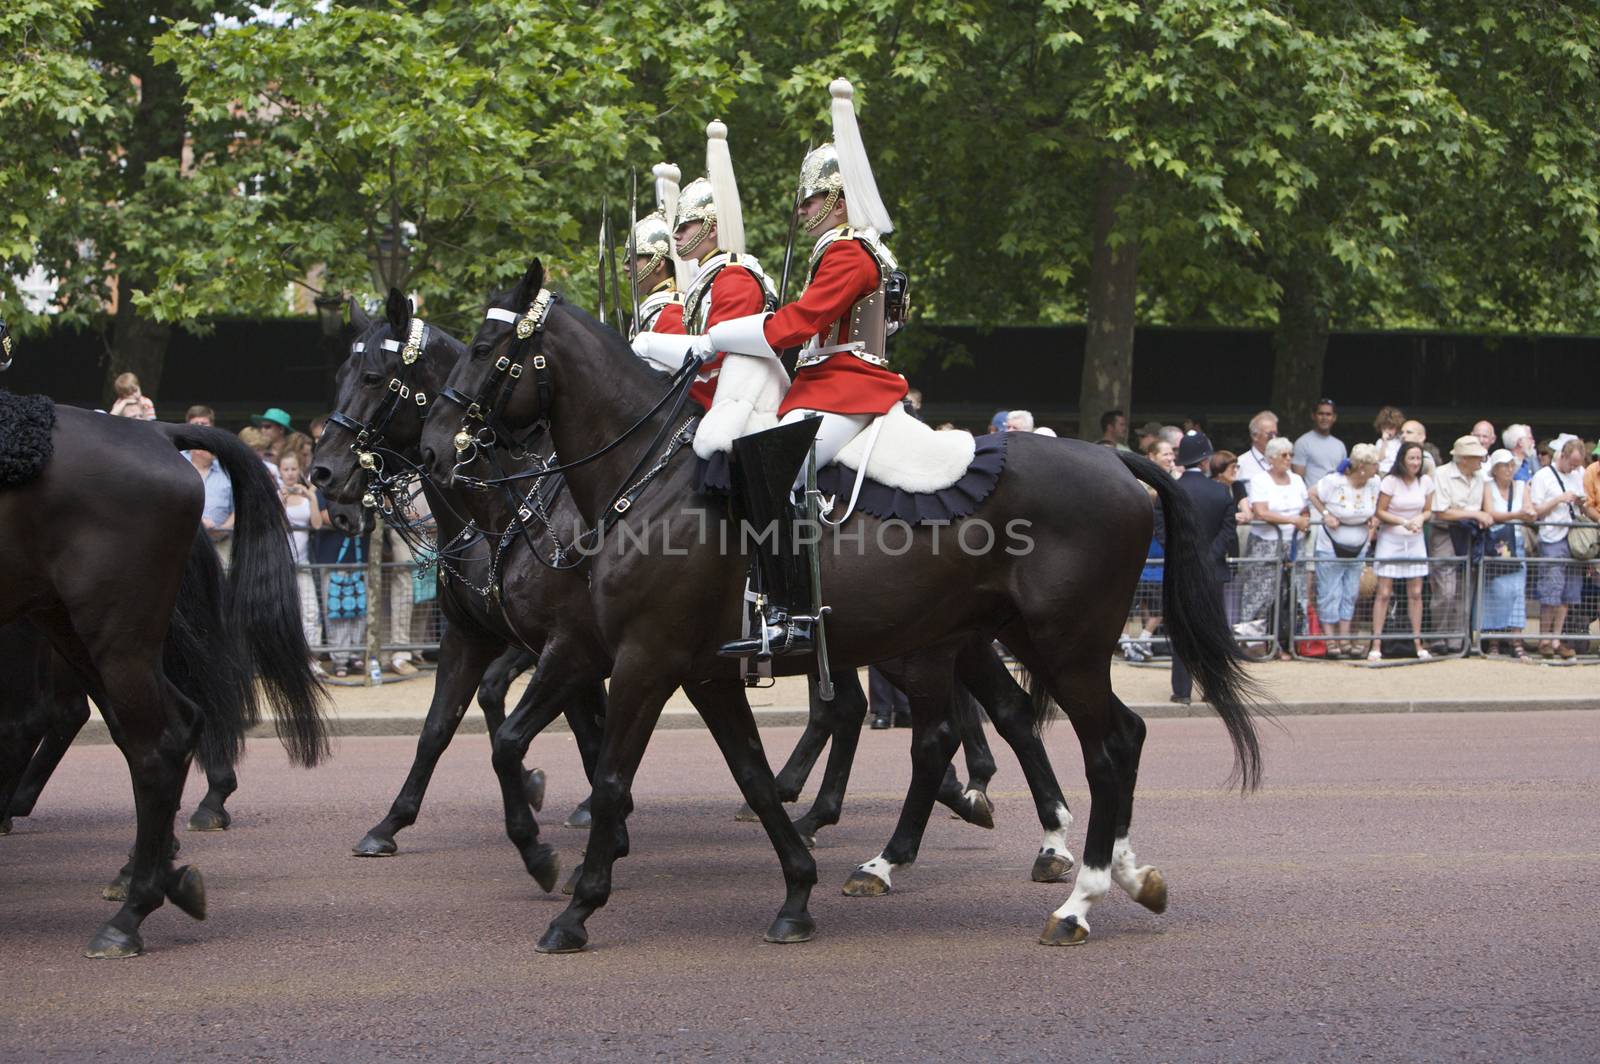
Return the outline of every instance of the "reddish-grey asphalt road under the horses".
[[[168,906],[149,955],[83,960],[131,802],[114,747],[74,749],[0,838],[0,1061],[1600,1058],[1600,712],[1291,718],[1248,798],[1216,722],[1152,722],[1133,842],[1171,907],[1114,891],[1067,949],[1035,944],[1066,888],[1027,880],[1038,826],[1002,750],[995,830],[941,814],[893,894],[838,893],[888,837],[906,734],[862,741],[805,946],[760,941],[778,864],[710,738],[658,734],[634,856],[571,957],[533,950],[563,899],[522,872],[467,736],[394,859],[349,848],[411,741],[344,739],[314,773],[253,742],[234,829],[182,835],[211,918]],[[1082,758],[1066,725],[1048,742],[1080,853]],[[576,859],[576,752],[549,736],[530,763]]]

